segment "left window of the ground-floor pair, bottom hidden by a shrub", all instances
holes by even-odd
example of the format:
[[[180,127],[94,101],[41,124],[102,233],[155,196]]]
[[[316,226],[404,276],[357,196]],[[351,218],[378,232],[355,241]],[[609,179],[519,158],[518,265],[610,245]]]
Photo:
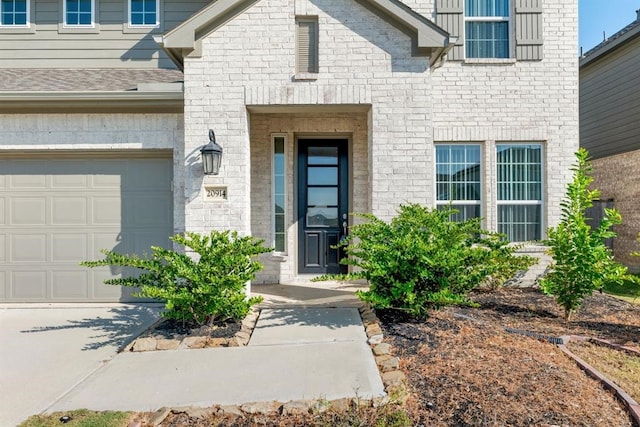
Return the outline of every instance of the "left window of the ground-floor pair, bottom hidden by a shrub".
[[[436,207],[451,204],[458,211],[452,220],[480,217],[480,152],[478,144],[436,144]]]

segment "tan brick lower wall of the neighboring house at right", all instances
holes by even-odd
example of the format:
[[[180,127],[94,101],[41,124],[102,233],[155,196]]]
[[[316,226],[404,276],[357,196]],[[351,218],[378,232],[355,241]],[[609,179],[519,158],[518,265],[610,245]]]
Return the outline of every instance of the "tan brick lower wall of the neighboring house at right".
[[[640,150],[595,159],[593,172],[600,199],[612,199],[622,215],[622,224],[614,229],[618,236],[613,239],[613,254],[631,271],[640,272],[640,257],[630,255],[640,251]]]

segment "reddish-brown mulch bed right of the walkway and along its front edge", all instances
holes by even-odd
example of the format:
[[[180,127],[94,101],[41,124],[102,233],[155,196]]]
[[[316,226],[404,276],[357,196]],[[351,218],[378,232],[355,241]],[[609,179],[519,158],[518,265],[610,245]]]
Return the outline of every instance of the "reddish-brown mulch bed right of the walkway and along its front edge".
[[[479,308],[449,307],[417,321],[378,311],[384,341],[400,357],[414,426],[632,426],[623,405],[555,345],[505,328],[587,335],[640,348],[640,306],[594,294],[571,322],[535,289],[478,291]],[[536,336],[537,336],[536,335]],[[344,415],[169,416],[163,426],[375,425],[391,409]],[[332,417],[327,419],[327,417]]]

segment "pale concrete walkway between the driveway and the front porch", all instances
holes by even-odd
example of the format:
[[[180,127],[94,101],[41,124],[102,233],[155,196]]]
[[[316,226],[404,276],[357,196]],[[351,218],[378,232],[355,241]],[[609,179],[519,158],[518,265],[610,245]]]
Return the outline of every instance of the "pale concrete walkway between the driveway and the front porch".
[[[47,412],[378,396],[356,308],[266,308],[247,347],[120,354]]]

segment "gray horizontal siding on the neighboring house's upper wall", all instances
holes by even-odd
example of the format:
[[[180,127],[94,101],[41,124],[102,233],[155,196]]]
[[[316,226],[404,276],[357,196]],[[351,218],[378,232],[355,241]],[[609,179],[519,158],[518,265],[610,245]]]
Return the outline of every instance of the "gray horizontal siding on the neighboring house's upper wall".
[[[594,158],[640,149],[640,37],[580,69],[580,145]]]

